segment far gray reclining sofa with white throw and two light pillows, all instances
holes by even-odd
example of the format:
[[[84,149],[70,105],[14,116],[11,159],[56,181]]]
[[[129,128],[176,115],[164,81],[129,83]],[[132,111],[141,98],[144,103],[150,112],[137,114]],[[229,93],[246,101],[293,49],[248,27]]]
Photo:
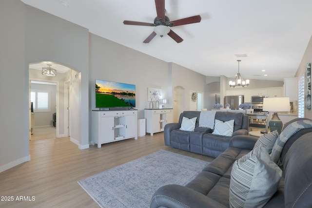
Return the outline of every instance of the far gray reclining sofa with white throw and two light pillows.
[[[184,111],[180,114],[178,123],[169,123],[164,128],[165,145],[173,148],[191,151],[211,157],[217,157],[225,151],[232,136],[248,135],[249,118],[243,113],[215,112],[215,119],[230,121],[234,119],[234,132],[232,136],[213,134],[211,128],[199,127],[201,112]],[[180,130],[182,118],[197,117],[194,131]]]

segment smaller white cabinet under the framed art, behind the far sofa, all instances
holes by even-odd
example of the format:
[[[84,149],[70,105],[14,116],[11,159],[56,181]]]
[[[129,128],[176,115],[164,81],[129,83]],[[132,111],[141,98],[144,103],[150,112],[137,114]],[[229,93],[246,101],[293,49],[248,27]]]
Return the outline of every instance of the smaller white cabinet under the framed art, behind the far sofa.
[[[167,123],[173,121],[173,109],[145,109],[146,132],[153,136],[156,132],[163,132]]]

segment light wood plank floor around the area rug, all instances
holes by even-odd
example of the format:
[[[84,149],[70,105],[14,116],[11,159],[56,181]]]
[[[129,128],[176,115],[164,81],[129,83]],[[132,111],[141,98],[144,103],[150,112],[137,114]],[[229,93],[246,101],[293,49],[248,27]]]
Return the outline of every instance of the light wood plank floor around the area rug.
[[[163,132],[79,150],[69,137],[30,141],[31,161],[0,173],[0,207],[98,208],[78,181],[158,150],[211,162],[213,158],[166,147]],[[13,196],[13,201],[2,201]],[[17,201],[17,197],[27,201]],[[35,200],[32,200],[34,197]],[[152,197],[152,196],[151,196]]]

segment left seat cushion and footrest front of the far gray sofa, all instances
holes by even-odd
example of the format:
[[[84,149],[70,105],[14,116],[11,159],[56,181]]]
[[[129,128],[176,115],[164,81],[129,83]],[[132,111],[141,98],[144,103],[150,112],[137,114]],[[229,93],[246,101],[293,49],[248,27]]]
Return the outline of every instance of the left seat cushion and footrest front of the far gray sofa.
[[[170,146],[173,148],[190,151],[191,132],[173,130],[170,133]]]

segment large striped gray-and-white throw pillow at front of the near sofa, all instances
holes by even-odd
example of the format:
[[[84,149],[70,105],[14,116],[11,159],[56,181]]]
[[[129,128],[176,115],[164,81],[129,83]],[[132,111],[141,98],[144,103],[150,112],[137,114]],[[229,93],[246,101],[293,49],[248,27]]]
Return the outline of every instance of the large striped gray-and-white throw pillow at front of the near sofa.
[[[263,207],[276,192],[282,170],[264,147],[257,147],[233,164],[230,207]]]

